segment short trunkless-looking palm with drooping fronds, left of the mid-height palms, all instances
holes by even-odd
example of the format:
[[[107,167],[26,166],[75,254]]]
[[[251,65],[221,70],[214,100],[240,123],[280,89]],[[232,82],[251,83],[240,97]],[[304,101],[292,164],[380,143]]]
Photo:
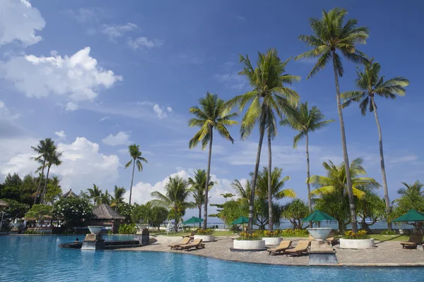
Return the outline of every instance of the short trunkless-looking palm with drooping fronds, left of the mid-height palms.
[[[166,207],[170,210],[170,216],[175,219],[174,227],[177,231],[179,219],[185,214],[186,209],[196,207],[193,202],[188,202],[193,190],[187,188],[188,183],[179,176],[170,177],[165,185],[165,195],[159,191],[151,192],[151,196],[157,200],[151,200],[153,206]]]

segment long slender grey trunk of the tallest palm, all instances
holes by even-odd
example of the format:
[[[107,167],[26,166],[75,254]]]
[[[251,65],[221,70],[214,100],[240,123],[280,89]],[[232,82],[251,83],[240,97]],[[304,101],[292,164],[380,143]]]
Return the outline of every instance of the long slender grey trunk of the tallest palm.
[[[343,161],[346,168],[346,185],[348,189],[349,209],[351,210],[352,231],[357,232],[358,226],[356,225],[356,210],[355,210],[355,202],[353,199],[353,191],[352,191],[351,168],[349,166],[348,148],[346,146],[346,133],[344,129],[343,113],[341,110],[340,89],[338,87],[338,73],[337,73],[337,66],[336,66],[337,64],[336,64],[335,55],[336,55],[336,51],[333,51],[334,80],[336,81],[336,100],[337,100],[338,120],[340,121],[341,147],[343,149]]]

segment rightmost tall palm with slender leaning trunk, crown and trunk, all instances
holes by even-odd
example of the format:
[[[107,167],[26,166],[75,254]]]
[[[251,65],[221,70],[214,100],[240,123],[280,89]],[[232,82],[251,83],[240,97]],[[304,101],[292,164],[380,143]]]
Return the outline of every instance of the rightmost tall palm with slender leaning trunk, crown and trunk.
[[[365,61],[364,71],[358,68],[356,72],[358,78],[355,80],[355,85],[360,91],[344,92],[341,97],[346,100],[343,106],[348,106],[351,102],[360,102],[359,108],[363,116],[367,113],[367,109],[374,112],[375,122],[377,123],[378,130],[378,142],[379,142],[379,154],[380,154],[380,166],[382,168],[383,188],[384,188],[384,200],[386,202],[386,213],[387,218],[390,216],[390,201],[389,201],[389,190],[387,188],[386,179],[386,168],[384,167],[384,155],[383,155],[383,136],[382,128],[379,124],[377,115],[377,105],[375,104],[376,95],[383,98],[396,99],[396,95],[404,96],[406,91],[405,87],[409,85],[409,80],[396,76],[384,81],[384,76],[379,75],[381,66],[379,63],[373,63],[374,59]],[[387,227],[391,230],[391,221],[387,221]]]

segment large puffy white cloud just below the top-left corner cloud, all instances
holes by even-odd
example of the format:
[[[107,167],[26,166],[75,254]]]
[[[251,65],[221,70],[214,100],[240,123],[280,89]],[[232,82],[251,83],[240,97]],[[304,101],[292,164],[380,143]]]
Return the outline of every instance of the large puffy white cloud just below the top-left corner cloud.
[[[28,97],[66,96],[69,111],[78,109],[78,102],[93,101],[101,87],[109,88],[122,80],[120,75],[98,66],[97,60],[90,56],[90,47],[63,58],[16,56],[0,63],[0,71]]]

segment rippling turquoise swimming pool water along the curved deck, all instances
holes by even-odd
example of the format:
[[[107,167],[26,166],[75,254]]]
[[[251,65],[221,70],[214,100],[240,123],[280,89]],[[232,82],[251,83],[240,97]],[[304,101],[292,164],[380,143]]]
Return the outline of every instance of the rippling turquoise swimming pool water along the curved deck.
[[[271,266],[175,253],[59,248],[75,238],[0,236],[0,281],[424,281],[424,268]],[[119,238],[124,239],[106,239]]]

